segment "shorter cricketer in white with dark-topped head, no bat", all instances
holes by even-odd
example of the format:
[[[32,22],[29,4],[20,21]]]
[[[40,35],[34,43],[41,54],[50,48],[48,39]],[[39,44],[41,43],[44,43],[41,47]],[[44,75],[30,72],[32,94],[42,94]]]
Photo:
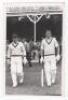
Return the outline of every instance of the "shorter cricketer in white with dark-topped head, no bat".
[[[13,34],[13,41],[8,47],[8,61],[11,66],[13,87],[16,87],[18,85],[18,77],[19,83],[23,83],[23,63],[27,63],[25,47],[23,43],[18,41],[18,36],[16,34]]]

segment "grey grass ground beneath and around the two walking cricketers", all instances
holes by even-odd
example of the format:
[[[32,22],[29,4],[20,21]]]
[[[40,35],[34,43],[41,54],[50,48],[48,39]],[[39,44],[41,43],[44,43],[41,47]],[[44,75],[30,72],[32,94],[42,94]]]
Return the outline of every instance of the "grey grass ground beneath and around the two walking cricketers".
[[[7,67],[7,66],[6,66]],[[61,66],[57,66],[56,83],[52,87],[45,85],[41,87],[41,66],[33,64],[30,68],[24,66],[24,83],[16,88],[12,88],[12,80],[8,67],[6,68],[6,94],[14,95],[61,95]]]

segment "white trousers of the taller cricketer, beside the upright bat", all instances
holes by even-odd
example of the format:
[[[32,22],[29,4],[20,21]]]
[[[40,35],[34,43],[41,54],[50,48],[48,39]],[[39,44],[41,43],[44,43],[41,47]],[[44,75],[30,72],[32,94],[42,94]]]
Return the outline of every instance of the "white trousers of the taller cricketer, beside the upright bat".
[[[44,71],[47,85],[55,83],[56,79],[56,58],[55,55],[44,57]]]

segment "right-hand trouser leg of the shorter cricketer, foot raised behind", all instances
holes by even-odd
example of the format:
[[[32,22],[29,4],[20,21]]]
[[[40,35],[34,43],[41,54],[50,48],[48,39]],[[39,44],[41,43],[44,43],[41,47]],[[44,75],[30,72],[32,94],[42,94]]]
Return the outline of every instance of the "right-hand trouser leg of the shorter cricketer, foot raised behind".
[[[19,83],[23,83],[23,81],[24,81],[24,71],[23,71],[22,58],[19,58],[18,61],[17,61],[17,74],[19,76]]]

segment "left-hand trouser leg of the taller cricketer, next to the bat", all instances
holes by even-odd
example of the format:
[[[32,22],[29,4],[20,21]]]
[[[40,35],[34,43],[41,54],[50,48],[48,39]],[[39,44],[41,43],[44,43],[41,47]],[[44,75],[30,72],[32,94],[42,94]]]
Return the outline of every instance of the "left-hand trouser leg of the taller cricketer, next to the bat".
[[[47,57],[46,57],[45,63],[44,63],[44,70],[45,70],[47,86],[51,86],[51,71],[50,71],[49,60]]]

